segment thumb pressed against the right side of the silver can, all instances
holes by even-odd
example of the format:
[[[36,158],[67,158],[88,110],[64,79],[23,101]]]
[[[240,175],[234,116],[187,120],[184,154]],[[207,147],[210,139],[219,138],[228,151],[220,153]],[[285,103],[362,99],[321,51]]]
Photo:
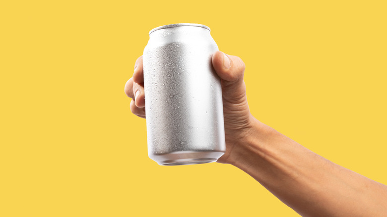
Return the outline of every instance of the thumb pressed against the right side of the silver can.
[[[233,104],[243,102],[246,98],[246,86],[243,81],[246,66],[242,59],[217,51],[212,55],[212,65],[222,79],[223,98]]]

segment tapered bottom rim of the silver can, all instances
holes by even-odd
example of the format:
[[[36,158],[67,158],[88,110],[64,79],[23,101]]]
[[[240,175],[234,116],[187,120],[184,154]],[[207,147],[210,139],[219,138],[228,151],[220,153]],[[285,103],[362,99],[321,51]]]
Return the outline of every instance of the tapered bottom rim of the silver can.
[[[149,156],[160,165],[189,165],[216,162],[224,152],[216,151],[181,151],[163,155]]]

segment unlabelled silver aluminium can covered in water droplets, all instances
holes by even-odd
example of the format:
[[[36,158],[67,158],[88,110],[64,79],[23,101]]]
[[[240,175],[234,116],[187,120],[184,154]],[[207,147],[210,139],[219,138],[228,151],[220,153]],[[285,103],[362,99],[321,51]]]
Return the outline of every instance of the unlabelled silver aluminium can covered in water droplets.
[[[222,88],[207,26],[149,32],[143,53],[148,155],[160,165],[216,162],[225,150]]]

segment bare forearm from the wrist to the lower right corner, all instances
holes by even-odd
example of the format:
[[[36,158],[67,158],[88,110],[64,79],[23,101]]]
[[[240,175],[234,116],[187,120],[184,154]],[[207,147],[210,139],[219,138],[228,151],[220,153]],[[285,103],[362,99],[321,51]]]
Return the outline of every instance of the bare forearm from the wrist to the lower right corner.
[[[332,163],[272,128],[252,121],[228,161],[302,216],[385,216],[387,187]]]

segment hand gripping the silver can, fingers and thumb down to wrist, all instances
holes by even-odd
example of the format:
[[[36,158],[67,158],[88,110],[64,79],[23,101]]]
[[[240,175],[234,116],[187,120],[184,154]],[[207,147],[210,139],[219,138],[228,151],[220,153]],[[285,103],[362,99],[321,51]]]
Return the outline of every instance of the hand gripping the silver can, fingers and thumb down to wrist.
[[[246,85],[243,81],[245,63],[242,59],[217,51],[212,55],[212,65],[221,78],[226,137],[226,153],[217,162],[231,163],[230,155],[233,153],[234,146],[244,141],[256,119],[250,114],[247,103]],[[142,56],[140,56],[135,62],[133,76],[125,84],[125,93],[132,98],[131,112],[145,118],[143,75]]]

